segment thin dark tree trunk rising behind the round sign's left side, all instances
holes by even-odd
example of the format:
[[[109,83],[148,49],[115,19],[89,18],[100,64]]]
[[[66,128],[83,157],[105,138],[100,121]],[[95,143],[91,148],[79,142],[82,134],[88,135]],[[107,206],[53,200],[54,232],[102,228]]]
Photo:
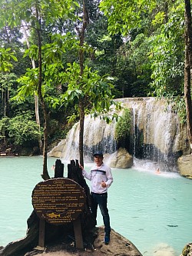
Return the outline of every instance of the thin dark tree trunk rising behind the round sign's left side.
[[[43,147],[43,173],[41,177],[44,180],[48,180],[50,177],[48,175],[48,113],[45,106],[45,101],[41,92],[41,84],[42,84],[42,56],[41,56],[41,22],[38,17],[38,8],[36,7],[36,18],[38,20],[38,28],[36,28],[38,35],[38,97],[41,101],[41,106],[43,109],[44,115],[44,147]]]

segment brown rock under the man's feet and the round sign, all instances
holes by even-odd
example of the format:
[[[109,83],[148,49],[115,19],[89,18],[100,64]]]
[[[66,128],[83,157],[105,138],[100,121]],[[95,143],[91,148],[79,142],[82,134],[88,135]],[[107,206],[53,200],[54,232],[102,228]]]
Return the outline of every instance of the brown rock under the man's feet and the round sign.
[[[141,252],[137,250],[131,241],[124,238],[121,234],[118,234],[111,229],[111,241],[108,245],[104,244],[104,226],[94,228],[93,232],[88,233],[88,237],[84,238],[84,250],[75,249],[74,242],[63,240],[59,244],[47,244],[45,250],[37,250],[34,248],[33,251],[29,251],[25,256],[142,256]],[[93,241],[93,247],[87,247],[88,240]],[[22,256],[22,255],[19,255]]]

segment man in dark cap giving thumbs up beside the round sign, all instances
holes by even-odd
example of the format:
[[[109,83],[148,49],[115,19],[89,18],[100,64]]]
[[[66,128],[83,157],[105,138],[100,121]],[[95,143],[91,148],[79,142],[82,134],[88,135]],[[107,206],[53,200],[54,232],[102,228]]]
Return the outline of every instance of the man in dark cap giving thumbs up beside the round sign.
[[[103,153],[101,151],[94,153],[94,162],[96,165],[91,168],[91,172],[88,173],[87,171],[82,168],[82,174],[85,178],[91,181],[91,211],[93,217],[96,222],[97,218],[97,211],[98,205],[101,210],[101,214],[103,216],[104,221],[104,243],[108,244],[110,241],[110,218],[108,214],[108,188],[111,186],[113,182],[113,177],[111,174],[111,168],[107,165],[104,165],[103,162]]]

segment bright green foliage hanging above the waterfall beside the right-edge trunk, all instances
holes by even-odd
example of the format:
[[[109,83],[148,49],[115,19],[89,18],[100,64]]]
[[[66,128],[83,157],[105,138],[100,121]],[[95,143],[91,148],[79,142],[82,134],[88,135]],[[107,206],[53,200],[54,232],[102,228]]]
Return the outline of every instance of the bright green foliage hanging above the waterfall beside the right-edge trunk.
[[[151,36],[151,65],[154,89],[152,95],[182,95],[184,86],[184,4],[170,10],[170,17],[161,31]]]

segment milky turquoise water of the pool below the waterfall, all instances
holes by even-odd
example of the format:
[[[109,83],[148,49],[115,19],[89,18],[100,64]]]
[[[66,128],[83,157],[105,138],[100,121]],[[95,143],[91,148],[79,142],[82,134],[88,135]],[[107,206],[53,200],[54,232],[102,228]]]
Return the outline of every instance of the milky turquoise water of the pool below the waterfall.
[[[42,161],[41,157],[0,158],[2,246],[25,236],[33,210],[31,192],[42,181]],[[53,164],[55,158],[48,158],[51,177]],[[89,170],[91,165],[85,168]],[[108,190],[111,228],[133,242],[144,256],[179,256],[192,239],[192,181],[175,173],[156,175],[154,166],[142,161],[131,169],[112,169],[112,173],[114,183]]]

